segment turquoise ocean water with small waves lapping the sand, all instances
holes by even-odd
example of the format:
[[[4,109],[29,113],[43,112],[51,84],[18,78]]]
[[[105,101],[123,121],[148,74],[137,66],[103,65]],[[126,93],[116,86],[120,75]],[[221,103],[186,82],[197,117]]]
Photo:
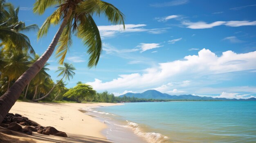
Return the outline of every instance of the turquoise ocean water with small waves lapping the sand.
[[[124,103],[94,112],[111,127],[110,139],[124,128],[138,136],[112,138],[117,143],[256,143],[256,101]]]

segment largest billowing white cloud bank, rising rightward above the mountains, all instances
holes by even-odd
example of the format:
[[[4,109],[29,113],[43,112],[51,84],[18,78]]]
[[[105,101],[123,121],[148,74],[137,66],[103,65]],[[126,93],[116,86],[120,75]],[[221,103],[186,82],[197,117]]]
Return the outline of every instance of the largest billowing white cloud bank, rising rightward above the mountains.
[[[185,79],[184,81],[186,81],[188,78],[198,79],[207,75],[220,75],[247,70],[256,70],[256,51],[240,54],[234,53],[233,51],[226,51],[223,52],[222,55],[217,56],[210,50],[202,49],[198,52],[198,55],[188,55],[182,60],[159,63],[158,66],[147,68],[141,73],[119,75],[118,78],[106,82],[103,82],[100,79],[95,79],[93,82],[88,82],[87,84],[92,85],[96,90],[120,91],[120,89],[125,89],[140,91],[160,87],[164,83],[173,83],[173,81],[180,79]],[[207,80],[207,82],[209,81]],[[185,87],[182,87],[181,85],[186,85],[186,83],[188,82],[180,82],[179,86],[176,86],[175,84],[175,87],[169,89],[180,89],[178,91],[185,91],[190,86],[187,86],[185,89]],[[188,84],[194,86],[190,82]],[[238,89],[244,90],[246,88],[234,88],[234,90]],[[256,88],[248,88],[248,90],[256,93]],[[209,93],[216,91],[215,89],[207,88],[198,89],[198,93],[200,94],[205,92]]]

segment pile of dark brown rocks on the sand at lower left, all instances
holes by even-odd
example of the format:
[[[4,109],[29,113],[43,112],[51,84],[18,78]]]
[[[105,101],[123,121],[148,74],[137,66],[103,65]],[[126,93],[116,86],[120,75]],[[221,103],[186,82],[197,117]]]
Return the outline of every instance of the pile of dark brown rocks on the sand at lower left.
[[[25,127],[22,128],[21,125]],[[32,132],[37,132],[39,134],[52,134],[54,136],[67,137],[67,134],[65,132],[58,131],[56,128],[50,126],[43,127],[41,125],[38,125],[38,123],[29,120],[27,117],[22,117],[22,115],[17,113],[8,113],[4,117],[2,123],[0,123],[0,126],[9,130],[19,131],[29,135],[32,135]]]

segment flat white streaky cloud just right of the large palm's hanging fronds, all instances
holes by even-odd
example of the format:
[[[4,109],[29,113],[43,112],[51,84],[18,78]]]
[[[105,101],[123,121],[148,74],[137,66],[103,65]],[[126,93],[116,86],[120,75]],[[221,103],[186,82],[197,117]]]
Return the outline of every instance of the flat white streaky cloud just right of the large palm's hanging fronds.
[[[147,26],[146,24],[125,24],[125,29],[123,25],[107,25],[107,26],[98,26],[101,37],[114,37],[118,33],[127,33],[127,32],[148,32],[151,34],[159,34],[166,32],[166,29],[144,29]]]

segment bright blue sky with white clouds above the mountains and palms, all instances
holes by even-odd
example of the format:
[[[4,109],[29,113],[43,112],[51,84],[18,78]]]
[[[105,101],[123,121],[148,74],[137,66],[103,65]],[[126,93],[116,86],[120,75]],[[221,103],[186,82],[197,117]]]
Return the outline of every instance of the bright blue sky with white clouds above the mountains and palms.
[[[20,6],[19,18],[38,24],[43,15],[32,12],[33,0],[8,0]],[[116,96],[156,89],[170,95],[249,98],[256,96],[256,1],[254,0],[106,0],[126,16],[126,30],[94,17],[101,33],[103,54],[96,68],[87,68],[81,40],[73,36],[65,62],[74,64],[77,81],[98,92]],[[36,39],[26,33],[36,53],[42,54],[58,26]],[[53,55],[49,74],[58,59]]]

